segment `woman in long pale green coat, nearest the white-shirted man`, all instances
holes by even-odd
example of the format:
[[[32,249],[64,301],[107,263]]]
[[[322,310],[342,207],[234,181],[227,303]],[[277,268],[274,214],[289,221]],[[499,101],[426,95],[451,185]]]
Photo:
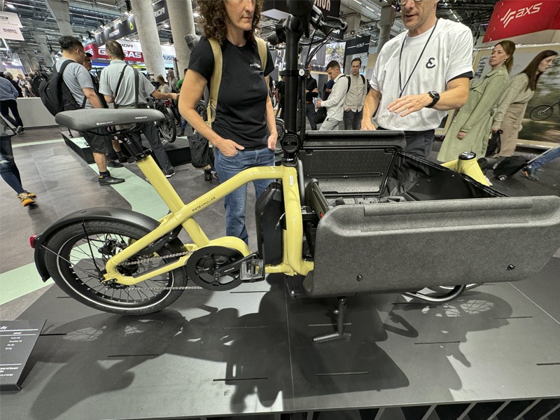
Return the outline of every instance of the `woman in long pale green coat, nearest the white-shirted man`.
[[[484,157],[493,109],[510,81],[514,50],[512,41],[501,41],[493,48],[489,62],[491,71],[472,83],[467,103],[451,123],[437,160],[456,160],[459,154],[468,151]]]

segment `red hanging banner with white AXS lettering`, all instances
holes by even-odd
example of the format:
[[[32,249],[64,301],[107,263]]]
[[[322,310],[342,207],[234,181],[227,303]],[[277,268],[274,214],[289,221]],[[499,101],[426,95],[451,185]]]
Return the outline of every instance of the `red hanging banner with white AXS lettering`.
[[[560,0],[503,0],[494,7],[483,42],[560,29]]]

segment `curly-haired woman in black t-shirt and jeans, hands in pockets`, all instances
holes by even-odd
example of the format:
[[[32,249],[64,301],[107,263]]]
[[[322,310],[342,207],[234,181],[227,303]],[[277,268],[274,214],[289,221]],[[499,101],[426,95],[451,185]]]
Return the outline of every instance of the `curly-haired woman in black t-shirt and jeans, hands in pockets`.
[[[268,75],[274,69],[267,48],[261,63],[255,31],[262,0],[199,1],[204,35],[190,55],[179,111],[188,123],[215,146],[214,164],[221,182],[250,167],[274,165],[276,122],[268,94]],[[208,127],[196,111],[204,89],[210,86],[214,54],[209,38],[221,45],[222,76],[216,118]],[[265,67],[265,68],[264,68]],[[253,181],[258,197],[270,180]],[[226,235],[248,243],[245,228],[247,186],[225,197]]]

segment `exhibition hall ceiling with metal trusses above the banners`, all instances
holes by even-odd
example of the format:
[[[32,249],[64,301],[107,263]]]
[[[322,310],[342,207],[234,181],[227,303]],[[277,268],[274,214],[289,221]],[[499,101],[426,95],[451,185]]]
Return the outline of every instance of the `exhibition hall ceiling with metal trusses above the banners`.
[[[168,0],[169,1],[169,0]],[[199,0],[202,1],[202,0]],[[341,0],[341,15],[346,18],[351,14],[360,16],[360,25],[356,30],[357,36],[371,35],[372,45],[377,44],[379,36],[379,16],[381,7],[391,0]],[[127,11],[125,0],[69,0],[70,20],[73,31],[83,38],[84,43],[93,41],[92,34],[96,29],[109,24],[123,16]],[[393,35],[404,30],[400,22],[398,0],[393,0],[397,9],[397,18],[392,27]],[[437,6],[437,16],[458,20],[470,27],[475,36],[484,34],[486,24],[489,22],[496,0],[440,0]],[[197,7],[196,0],[193,5]],[[26,41],[7,41],[10,50],[22,52],[26,49],[36,50],[36,55],[41,62],[41,52],[34,40],[32,32],[46,36],[52,51],[58,51],[57,39],[59,29],[55,18],[45,0],[0,0],[0,9],[6,12],[18,13],[22,22],[22,34]],[[262,36],[274,29],[274,20],[262,21]],[[165,24],[160,25],[160,39],[162,43],[172,41],[171,30]],[[346,34],[346,38],[351,37]]]

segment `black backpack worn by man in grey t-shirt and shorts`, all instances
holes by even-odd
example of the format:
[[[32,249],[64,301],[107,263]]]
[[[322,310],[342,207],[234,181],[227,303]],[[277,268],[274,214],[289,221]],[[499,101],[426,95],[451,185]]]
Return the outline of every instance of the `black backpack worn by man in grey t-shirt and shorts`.
[[[84,97],[82,106],[79,106],[62,78],[66,66],[70,63],[74,63],[74,61],[71,59],[66,60],[62,63],[59,71],[53,71],[50,78],[43,80],[39,85],[41,102],[43,102],[43,105],[52,116],[56,116],[57,113],[62,111],[73,111],[74,109],[83,109],[85,107],[87,98]]]

